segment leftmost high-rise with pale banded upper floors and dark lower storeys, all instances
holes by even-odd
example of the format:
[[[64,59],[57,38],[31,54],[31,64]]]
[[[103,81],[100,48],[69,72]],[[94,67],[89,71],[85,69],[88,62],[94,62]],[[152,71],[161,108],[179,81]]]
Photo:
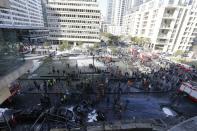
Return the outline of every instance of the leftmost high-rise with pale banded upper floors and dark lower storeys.
[[[44,29],[41,0],[3,1],[4,6],[0,7],[0,34],[4,36],[0,37],[4,41],[44,42],[47,31]]]

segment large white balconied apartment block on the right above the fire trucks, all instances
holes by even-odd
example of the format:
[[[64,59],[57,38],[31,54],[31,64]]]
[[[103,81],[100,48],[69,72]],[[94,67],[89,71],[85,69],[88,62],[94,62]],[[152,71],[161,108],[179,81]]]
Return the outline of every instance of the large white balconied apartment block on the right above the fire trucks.
[[[150,38],[153,50],[188,51],[197,32],[196,2],[151,0],[124,16],[122,33]]]

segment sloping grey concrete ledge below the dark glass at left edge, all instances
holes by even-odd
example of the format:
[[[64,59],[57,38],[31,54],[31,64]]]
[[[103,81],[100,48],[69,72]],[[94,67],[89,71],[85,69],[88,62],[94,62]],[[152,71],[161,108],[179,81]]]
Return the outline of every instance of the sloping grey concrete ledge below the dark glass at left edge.
[[[27,61],[23,66],[19,67],[17,70],[0,78],[0,104],[11,95],[9,91],[10,84],[31,68],[32,61]]]

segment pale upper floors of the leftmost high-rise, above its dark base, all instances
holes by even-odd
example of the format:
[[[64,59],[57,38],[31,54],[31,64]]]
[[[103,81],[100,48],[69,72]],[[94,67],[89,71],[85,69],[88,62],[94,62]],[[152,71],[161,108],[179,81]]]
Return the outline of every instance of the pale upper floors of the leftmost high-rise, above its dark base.
[[[9,2],[3,0],[1,2],[6,8],[0,8],[0,28],[44,27],[41,0],[9,0]]]

